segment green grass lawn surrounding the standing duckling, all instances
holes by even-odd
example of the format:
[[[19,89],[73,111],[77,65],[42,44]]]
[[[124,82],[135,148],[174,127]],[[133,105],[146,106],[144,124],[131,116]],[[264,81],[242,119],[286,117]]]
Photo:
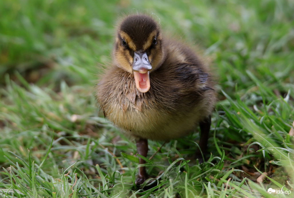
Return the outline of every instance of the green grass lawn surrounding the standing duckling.
[[[0,197],[290,197],[267,190],[294,193],[293,9],[290,0],[0,1]],[[208,160],[191,159],[198,133],[172,140],[147,161],[157,179],[144,189],[134,185],[134,140],[93,96],[114,24],[134,10],[203,49],[219,82]],[[148,158],[162,144],[149,141]]]

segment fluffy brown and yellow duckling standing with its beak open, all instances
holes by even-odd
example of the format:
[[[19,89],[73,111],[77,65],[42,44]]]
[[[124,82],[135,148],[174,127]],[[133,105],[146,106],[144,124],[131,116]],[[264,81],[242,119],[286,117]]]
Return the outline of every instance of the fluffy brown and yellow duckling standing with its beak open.
[[[198,55],[181,41],[165,38],[156,20],[145,14],[121,21],[112,55],[96,99],[108,120],[135,137],[138,154],[147,156],[148,139],[177,139],[198,124],[205,152],[216,93]],[[139,167],[135,183],[147,178],[145,167]]]

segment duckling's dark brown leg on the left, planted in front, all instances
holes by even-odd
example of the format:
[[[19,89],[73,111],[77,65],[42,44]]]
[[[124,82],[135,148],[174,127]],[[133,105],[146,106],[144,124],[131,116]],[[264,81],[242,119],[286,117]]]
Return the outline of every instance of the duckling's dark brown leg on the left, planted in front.
[[[147,152],[148,152],[147,139],[140,138],[140,139],[136,140],[136,146],[137,146],[137,153],[146,157]],[[145,164],[145,160],[143,160],[142,158],[139,158],[139,164]],[[136,185],[143,184],[145,182],[145,180],[147,179],[147,173],[146,173],[145,166],[139,167],[138,170],[139,170],[138,177],[135,182]]]

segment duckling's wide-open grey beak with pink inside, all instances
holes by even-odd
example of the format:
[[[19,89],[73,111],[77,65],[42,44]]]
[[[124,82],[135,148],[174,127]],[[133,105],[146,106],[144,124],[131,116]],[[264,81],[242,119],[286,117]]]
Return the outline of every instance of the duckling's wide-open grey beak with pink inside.
[[[149,72],[152,69],[147,53],[135,52],[132,67],[137,89],[142,93],[147,92],[150,89]]]

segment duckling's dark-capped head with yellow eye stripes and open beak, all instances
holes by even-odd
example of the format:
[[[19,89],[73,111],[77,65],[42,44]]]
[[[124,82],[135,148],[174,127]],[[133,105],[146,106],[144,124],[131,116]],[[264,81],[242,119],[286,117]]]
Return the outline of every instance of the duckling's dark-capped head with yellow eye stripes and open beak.
[[[114,47],[115,64],[133,73],[136,88],[145,93],[150,88],[149,75],[164,61],[159,25],[150,16],[135,14],[118,26]]]

